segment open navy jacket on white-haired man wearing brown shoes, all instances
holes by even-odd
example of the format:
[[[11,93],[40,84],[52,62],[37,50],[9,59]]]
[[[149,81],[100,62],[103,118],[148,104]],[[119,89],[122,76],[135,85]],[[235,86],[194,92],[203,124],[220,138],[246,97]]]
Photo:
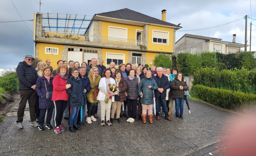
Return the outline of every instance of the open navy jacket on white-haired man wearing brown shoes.
[[[155,90],[154,93],[155,93],[156,98],[166,98],[166,90],[168,88],[170,88],[170,82],[168,80],[168,77],[165,76],[164,74],[162,76],[163,76],[163,80],[162,80],[162,87],[161,88],[163,88],[164,91],[161,93],[161,97],[159,97],[160,92],[158,90]],[[159,87],[160,86],[160,77],[158,75],[152,76],[152,77],[156,81],[157,86]]]

